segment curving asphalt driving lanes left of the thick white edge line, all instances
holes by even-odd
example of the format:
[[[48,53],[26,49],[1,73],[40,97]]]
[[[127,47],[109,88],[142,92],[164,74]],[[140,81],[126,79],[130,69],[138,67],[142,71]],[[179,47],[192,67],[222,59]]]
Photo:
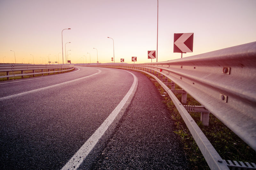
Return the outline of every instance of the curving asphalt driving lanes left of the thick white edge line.
[[[134,81],[123,70],[78,68],[70,74],[0,84],[0,169],[61,169]]]

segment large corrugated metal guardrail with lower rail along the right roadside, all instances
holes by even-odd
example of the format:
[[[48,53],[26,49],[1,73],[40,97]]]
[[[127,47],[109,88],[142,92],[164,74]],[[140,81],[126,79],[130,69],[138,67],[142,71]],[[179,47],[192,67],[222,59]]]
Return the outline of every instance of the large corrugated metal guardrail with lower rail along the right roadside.
[[[154,77],[171,97],[211,169],[230,166],[172,90],[151,73],[175,82],[256,151],[256,42],[164,62],[90,67],[140,70]]]

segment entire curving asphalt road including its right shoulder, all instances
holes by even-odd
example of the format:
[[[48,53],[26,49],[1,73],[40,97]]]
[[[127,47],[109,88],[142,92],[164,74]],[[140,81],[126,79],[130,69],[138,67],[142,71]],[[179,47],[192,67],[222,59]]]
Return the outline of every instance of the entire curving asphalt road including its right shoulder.
[[[186,169],[156,87],[131,73],[77,67],[66,74],[1,82],[0,169]],[[66,168],[105,122],[110,125],[92,151]]]

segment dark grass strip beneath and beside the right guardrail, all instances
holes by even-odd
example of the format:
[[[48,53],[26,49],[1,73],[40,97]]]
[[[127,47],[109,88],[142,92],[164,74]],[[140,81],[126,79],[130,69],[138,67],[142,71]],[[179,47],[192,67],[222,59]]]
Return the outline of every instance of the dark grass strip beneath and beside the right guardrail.
[[[167,108],[170,110],[170,117],[175,121],[176,130],[174,133],[180,137],[183,143],[186,158],[189,162],[189,169],[210,169],[169,95],[165,93],[165,90],[157,81],[153,80],[153,77],[146,73],[141,73],[146,75],[152,83],[155,84],[161,95],[165,95],[162,96],[163,103],[166,104]],[[169,88],[171,89],[171,87]],[[175,89],[181,88],[175,85]],[[175,96],[181,102],[181,94],[175,94]],[[186,104],[195,106],[201,105],[189,94],[187,94]],[[209,116],[209,126],[204,126],[202,124],[200,121],[200,113],[190,112],[190,115],[204,132],[205,136],[211,142],[222,159],[253,163],[256,162],[256,152],[211,113]]]

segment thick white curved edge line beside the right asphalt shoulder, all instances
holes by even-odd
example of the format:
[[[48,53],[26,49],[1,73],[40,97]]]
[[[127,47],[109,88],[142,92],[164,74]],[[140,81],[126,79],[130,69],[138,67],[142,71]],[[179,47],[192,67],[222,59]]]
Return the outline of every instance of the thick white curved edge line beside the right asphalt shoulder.
[[[123,71],[125,71],[125,70],[123,70]],[[118,115],[120,110],[124,107],[124,104],[127,102],[129,97],[132,95],[133,91],[137,89],[137,86],[138,86],[137,77],[129,71],[126,71],[126,72],[132,74],[132,76],[134,78],[132,87],[129,89],[129,91],[124,96],[124,98],[121,100],[121,102],[116,106],[116,108],[110,113],[110,115],[107,117],[107,119],[92,134],[92,136],[84,143],[84,145],[81,146],[81,148],[75,153],[75,155],[71,159],[69,159],[67,164],[65,166],[63,166],[63,168],[61,170],[68,170],[68,169],[76,170],[80,166],[80,164],[83,162],[83,160],[86,158],[86,156],[91,152],[91,150],[97,144],[97,142],[102,137],[102,135],[105,133],[105,131],[107,131],[109,125],[112,124],[112,122],[114,121],[114,119],[116,118],[116,116]]]

